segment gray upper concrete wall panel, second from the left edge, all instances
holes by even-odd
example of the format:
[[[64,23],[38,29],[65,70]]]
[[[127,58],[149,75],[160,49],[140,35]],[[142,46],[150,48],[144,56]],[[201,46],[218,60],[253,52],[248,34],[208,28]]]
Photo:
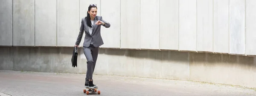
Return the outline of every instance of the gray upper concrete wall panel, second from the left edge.
[[[35,45],[35,0],[13,0],[13,45]]]

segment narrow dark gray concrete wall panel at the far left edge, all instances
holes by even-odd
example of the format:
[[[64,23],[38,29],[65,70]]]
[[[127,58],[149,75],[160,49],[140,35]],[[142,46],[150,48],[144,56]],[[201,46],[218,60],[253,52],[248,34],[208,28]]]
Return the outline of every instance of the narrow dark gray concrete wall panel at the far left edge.
[[[0,46],[12,45],[12,0],[0,0]]]

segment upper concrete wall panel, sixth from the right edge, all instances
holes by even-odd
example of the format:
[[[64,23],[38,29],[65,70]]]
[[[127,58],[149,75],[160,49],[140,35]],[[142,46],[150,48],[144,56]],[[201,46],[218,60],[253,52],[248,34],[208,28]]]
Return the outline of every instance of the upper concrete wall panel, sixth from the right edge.
[[[160,0],[160,49],[179,49],[179,0]]]

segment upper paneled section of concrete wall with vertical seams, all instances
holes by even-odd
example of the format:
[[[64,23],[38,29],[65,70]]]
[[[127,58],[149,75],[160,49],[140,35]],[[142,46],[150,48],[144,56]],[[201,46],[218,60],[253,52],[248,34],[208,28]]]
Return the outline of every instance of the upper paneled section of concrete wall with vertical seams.
[[[88,5],[96,3],[111,23],[102,28],[102,48],[256,55],[254,0],[0,2],[1,46],[72,47]]]

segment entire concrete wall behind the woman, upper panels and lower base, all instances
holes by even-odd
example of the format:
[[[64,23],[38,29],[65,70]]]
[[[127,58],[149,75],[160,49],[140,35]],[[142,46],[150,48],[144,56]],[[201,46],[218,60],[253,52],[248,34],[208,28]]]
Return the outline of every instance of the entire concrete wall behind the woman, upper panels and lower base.
[[[96,74],[256,88],[255,0],[0,0],[0,70],[85,73],[67,47],[91,3],[111,23]]]

